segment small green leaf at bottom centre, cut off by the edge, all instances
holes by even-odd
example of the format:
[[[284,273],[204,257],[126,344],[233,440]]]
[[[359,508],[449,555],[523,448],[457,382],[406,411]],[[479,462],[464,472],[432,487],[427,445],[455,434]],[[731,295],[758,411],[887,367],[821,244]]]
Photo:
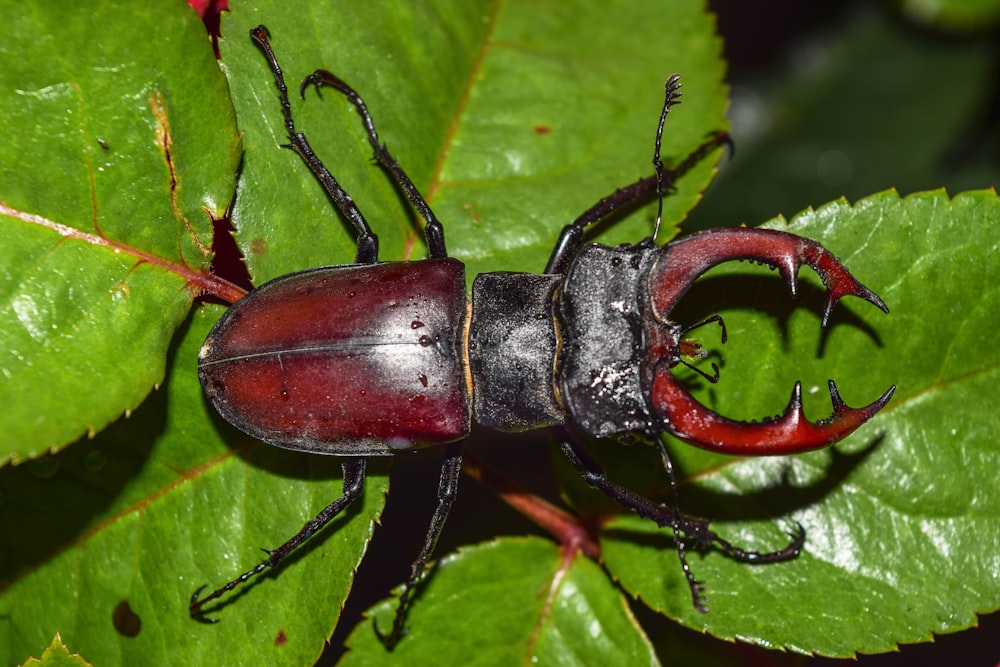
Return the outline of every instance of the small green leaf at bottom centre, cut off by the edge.
[[[388,631],[395,609],[393,598],[374,610],[379,628]],[[412,616],[391,653],[369,623],[358,626],[341,664],[430,665],[443,656],[484,666],[660,664],[601,568],[537,537],[498,539],[442,558],[433,595],[419,595]]]

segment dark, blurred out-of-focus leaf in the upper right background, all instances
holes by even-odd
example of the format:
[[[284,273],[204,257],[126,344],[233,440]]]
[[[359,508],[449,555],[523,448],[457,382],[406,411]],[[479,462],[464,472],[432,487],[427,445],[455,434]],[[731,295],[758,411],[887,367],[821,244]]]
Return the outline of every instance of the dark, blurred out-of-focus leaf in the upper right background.
[[[758,225],[839,197],[1000,183],[990,39],[935,38],[877,3],[733,81],[733,159],[685,230]],[[947,82],[943,94],[928,86]]]

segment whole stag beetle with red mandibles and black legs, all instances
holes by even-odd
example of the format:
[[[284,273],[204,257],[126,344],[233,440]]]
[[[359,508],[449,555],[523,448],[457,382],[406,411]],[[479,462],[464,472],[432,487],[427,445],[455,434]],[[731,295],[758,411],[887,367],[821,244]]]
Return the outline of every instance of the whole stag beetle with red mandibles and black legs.
[[[361,116],[378,162],[393,177],[425,224],[430,259],[378,262],[378,239],[353,200],[310,148],[292,121],[284,76],[264,26],[250,32],[278,88],[290,147],[309,166],[344,217],[356,228],[355,263],[282,276],[253,290],[219,319],[201,349],[198,374],[213,406],[239,429],[278,447],[344,457],[343,495],[268,558],[213,593],[191,598],[190,614],[207,621],[203,606],[268,567],[342,512],[361,494],[365,460],[429,445],[444,445],[438,505],[384,643],[401,636],[407,600],[422,575],[455,499],[460,441],[472,420],[499,431],[562,426],[562,449],[592,486],[675,534],[692,601],[707,611],[680,535],[701,547],[717,545],[739,560],[765,563],[798,555],[801,526],[783,549],[740,549],[681,514],[610,481],[588,454],[584,438],[639,437],[658,443],[670,433],[693,445],[742,455],[788,454],[824,447],[853,432],[889,401],[895,387],[864,408],[844,404],[830,381],[833,414],[809,422],[801,384],[776,419],[736,422],[698,403],[672,369],[691,365],[700,346],[683,336],[719,316],[684,328],[669,319],[692,283],[710,267],[753,260],[776,268],[794,296],[803,264],[826,286],[825,326],[843,296],[888,312],[828,250],[799,236],[764,229],[714,229],[659,247],[653,238],[631,246],[584,243],[585,229],[616,208],[664,189],[727,142],[718,133],[677,168],[659,159],[667,113],[679,103],[680,77],[670,77],[656,132],[654,176],[617,190],[567,225],[545,272],[485,273],[471,303],[465,267],[449,258],[444,230],[424,198],[379,141],[361,97],[325,70],[300,87],[333,88]],[[657,226],[659,215],[657,215]],[[655,236],[655,234],[654,234]],[[703,373],[711,381],[718,379]],[[701,372],[701,371],[699,371]],[[377,631],[377,628],[376,628]],[[381,637],[381,635],[380,635]]]

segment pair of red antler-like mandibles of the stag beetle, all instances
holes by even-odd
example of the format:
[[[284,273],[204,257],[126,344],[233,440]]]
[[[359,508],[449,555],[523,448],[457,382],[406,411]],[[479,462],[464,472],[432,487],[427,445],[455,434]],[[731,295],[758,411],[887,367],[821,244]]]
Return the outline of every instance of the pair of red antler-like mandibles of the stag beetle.
[[[811,266],[826,286],[823,326],[829,322],[833,306],[844,296],[856,296],[888,312],[882,299],[852,276],[829,250],[794,234],[769,229],[715,229],[667,245],[649,274],[653,309],[649,333],[656,340],[650,361],[658,363],[651,395],[667,431],[699,447],[730,454],[790,454],[824,447],[846,437],[885,406],[895,386],[873,403],[851,408],[841,400],[832,380],[833,414],[815,423],[803,414],[800,383],[796,383],[782,415],[762,423],[727,419],[698,403],[669,370],[680,360],[680,341],[679,328],[669,324],[668,316],[699,276],[731,260],[763,262],[777,268],[793,296],[799,267]]]

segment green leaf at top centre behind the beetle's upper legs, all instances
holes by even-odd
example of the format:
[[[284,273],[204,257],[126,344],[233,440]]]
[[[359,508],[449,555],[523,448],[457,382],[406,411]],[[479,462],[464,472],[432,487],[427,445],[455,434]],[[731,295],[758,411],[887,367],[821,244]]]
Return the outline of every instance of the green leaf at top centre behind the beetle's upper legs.
[[[276,150],[286,143],[277,91],[245,37],[258,24],[293,91],[322,67],[361,93],[469,276],[541,271],[563,225],[651,174],[673,72],[685,97],[670,117],[665,161],[725,125],[720,46],[698,3],[391,6],[314,5],[324,18],[312,29],[284,3],[233,6],[222,53],[246,145],[233,219],[255,281],[354,257],[353,231],[316,180],[291,151]],[[372,164],[353,107],[336,91],[309,89],[304,101],[293,95],[292,110],[380,235],[382,259],[425,256],[418,222]],[[667,200],[667,224],[694,205],[712,169],[711,160],[700,165]],[[651,219],[647,207],[597,238],[634,241],[651,233]]]

